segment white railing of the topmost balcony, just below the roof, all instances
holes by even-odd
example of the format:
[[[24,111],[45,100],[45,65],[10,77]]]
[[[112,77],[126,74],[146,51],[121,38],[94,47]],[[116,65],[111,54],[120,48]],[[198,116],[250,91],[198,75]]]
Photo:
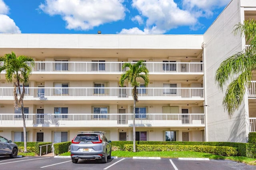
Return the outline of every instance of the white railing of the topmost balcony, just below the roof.
[[[134,63],[134,62],[131,62]],[[124,62],[47,62],[36,61],[32,72],[108,72],[122,73]],[[149,72],[203,73],[203,63],[145,62]]]

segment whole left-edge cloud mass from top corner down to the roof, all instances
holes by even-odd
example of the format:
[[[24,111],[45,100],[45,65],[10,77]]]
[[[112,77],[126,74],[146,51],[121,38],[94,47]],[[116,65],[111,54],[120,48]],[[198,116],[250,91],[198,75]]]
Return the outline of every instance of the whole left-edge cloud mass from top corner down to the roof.
[[[0,0],[0,33],[21,33],[14,20],[6,15],[8,12],[9,7]]]

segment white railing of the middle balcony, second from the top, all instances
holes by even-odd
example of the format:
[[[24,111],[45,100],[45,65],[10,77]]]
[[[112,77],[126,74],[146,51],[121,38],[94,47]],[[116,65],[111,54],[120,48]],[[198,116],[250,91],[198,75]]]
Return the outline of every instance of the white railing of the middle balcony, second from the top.
[[[204,88],[137,88],[138,96],[155,97],[155,98],[204,98]],[[0,98],[13,97],[14,88],[0,87]],[[36,87],[25,88],[24,97],[32,98],[69,98],[70,97],[116,97],[116,98],[132,98],[132,88],[50,88]]]

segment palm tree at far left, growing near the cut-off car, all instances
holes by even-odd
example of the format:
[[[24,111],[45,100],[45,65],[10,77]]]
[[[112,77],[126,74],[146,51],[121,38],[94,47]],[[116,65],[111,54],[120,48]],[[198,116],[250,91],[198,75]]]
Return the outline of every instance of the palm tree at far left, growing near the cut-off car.
[[[0,62],[2,65],[0,66],[0,73],[5,70],[5,78],[6,82],[12,83],[14,82],[14,108],[18,109],[18,105],[21,105],[22,110],[22,119],[23,119],[23,133],[24,133],[24,152],[27,152],[27,143],[26,143],[26,122],[24,115],[24,105],[23,98],[25,93],[25,88],[23,84],[23,90],[20,89],[20,83],[28,83],[29,76],[32,72],[32,67],[34,66],[34,60],[30,57],[20,55],[16,57],[14,52],[5,54],[4,57],[0,57]],[[31,66],[29,66],[29,64]],[[18,88],[18,94],[17,94]]]

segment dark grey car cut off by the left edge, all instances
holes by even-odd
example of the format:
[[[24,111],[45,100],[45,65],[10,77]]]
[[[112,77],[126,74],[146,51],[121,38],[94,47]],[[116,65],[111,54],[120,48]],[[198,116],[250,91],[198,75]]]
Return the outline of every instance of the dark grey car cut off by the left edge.
[[[0,136],[0,156],[10,155],[11,158],[16,158],[18,155],[18,146],[5,137]]]

